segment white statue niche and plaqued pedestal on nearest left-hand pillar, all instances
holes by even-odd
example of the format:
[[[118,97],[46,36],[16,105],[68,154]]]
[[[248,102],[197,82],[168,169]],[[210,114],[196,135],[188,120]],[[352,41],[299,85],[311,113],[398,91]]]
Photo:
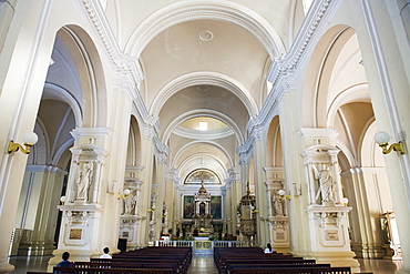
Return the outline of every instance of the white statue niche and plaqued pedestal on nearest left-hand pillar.
[[[66,199],[62,211],[59,246],[49,261],[49,268],[61,261],[64,251],[73,261],[89,261],[100,253],[103,231],[101,205],[102,173],[107,152],[102,148],[110,134],[107,129],[82,128],[72,132],[75,145],[68,180]]]

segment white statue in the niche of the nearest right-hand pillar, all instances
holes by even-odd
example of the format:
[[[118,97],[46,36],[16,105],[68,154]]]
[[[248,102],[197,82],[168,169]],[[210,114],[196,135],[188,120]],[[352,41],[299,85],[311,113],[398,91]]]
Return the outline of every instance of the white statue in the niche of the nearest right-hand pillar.
[[[316,165],[312,165],[312,169],[315,171],[315,177],[319,180],[319,191],[316,194],[316,200],[319,197],[319,193],[321,193],[322,203],[335,202],[334,199],[335,181],[330,173],[330,166],[321,164],[320,170]]]

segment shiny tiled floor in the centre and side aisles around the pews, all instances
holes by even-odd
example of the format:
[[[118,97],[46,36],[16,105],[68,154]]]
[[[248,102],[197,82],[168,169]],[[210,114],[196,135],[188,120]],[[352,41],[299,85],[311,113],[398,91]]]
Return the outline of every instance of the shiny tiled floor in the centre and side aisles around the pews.
[[[25,274],[27,271],[47,271],[50,256],[12,256],[9,263],[16,265],[12,274]],[[373,274],[396,274],[397,270],[403,267],[401,261],[389,260],[363,260],[360,262],[361,272],[372,272]],[[213,255],[194,255],[187,274],[216,274],[218,273],[213,261]]]

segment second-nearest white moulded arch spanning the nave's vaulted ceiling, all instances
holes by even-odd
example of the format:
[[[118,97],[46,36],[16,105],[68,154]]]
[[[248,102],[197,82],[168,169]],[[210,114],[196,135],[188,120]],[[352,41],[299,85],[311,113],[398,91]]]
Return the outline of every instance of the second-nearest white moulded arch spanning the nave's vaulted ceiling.
[[[157,116],[162,106],[173,94],[182,89],[201,84],[216,85],[230,91],[243,102],[250,116],[255,115],[258,110],[250,92],[238,81],[221,73],[203,71],[187,73],[170,81],[170,83],[156,94],[150,108],[150,113]]]

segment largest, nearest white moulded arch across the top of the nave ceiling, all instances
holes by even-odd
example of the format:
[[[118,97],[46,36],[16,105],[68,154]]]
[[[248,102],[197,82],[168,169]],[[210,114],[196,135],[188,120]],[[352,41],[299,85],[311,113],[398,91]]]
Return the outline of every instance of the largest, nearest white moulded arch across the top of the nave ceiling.
[[[217,0],[196,3],[184,0],[154,12],[133,32],[125,45],[125,52],[140,58],[150,41],[163,30],[201,19],[227,21],[248,30],[264,45],[271,60],[286,52],[279,34],[260,14],[242,4],[221,4]]]

